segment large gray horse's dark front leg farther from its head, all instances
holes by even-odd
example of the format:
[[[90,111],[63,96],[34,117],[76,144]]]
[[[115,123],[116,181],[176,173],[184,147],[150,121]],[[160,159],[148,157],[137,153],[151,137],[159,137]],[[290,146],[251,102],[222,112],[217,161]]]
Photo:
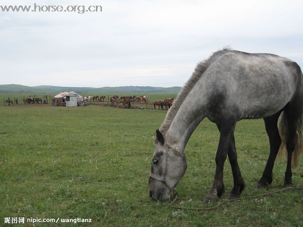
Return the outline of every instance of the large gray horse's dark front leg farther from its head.
[[[218,130],[221,131],[221,125],[217,124],[217,127],[218,127]],[[231,165],[232,175],[234,178],[234,187],[232,188],[231,192],[229,193],[228,199],[235,199],[235,198],[240,197],[241,192],[245,188],[245,183],[241,176],[241,172],[240,172],[239,165],[238,165],[234,134],[232,135],[231,143],[228,148],[227,155],[228,155],[229,163]]]

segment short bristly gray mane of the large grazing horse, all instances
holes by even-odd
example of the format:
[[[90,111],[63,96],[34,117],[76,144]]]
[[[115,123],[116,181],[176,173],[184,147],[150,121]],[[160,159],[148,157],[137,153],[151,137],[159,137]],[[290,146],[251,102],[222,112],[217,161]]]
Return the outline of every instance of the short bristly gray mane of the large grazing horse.
[[[174,104],[171,106],[171,108],[168,110],[166,117],[164,119],[164,122],[162,123],[161,127],[159,128],[160,132],[163,134],[166,134],[168,128],[171,125],[172,120],[175,118],[181,104],[183,103],[184,99],[188,95],[188,93],[191,91],[191,89],[194,87],[194,85],[197,83],[197,81],[201,78],[202,74],[205,72],[205,70],[208,68],[211,63],[213,63],[218,57],[220,57],[225,51],[230,51],[230,48],[223,48],[222,50],[218,50],[211,54],[211,56],[201,61],[197,64],[195,71],[189,78],[189,80],[186,82],[186,84],[182,87],[181,91],[179,92],[177,98],[174,101]],[[155,143],[158,143],[157,139],[154,140]]]

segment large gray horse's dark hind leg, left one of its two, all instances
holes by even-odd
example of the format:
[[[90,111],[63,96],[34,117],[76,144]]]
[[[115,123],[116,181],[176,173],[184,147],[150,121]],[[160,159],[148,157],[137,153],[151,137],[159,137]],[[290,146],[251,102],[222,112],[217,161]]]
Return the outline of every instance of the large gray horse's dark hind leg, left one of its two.
[[[263,119],[265,123],[265,129],[269,138],[270,153],[262,177],[256,185],[257,188],[265,188],[268,184],[271,184],[272,182],[272,169],[274,167],[275,159],[281,144],[281,138],[277,126],[278,118],[281,112],[282,110],[270,117],[266,117]]]

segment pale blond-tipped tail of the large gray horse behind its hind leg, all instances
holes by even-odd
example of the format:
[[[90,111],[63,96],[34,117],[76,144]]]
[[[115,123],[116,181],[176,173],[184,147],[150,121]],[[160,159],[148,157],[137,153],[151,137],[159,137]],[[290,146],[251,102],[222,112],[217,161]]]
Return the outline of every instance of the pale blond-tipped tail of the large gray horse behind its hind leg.
[[[303,153],[303,139],[302,139],[302,117],[303,114],[299,117],[298,123],[297,123],[297,130],[295,133],[295,150],[292,153],[291,158],[291,168],[296,169],[298,166],[298,160],[300,157],[300,154]],[[288,136],[288,124],[287,124],[287,117],[285,116],[284,111],[281,114],[281,120],[279,123],[279,134],[281,137],[281,145],[277,154],[277,160],[281,160],[282,153],[286,154],[287,157],[287,148],[286,148],[286,142],[287,142],[287,136]]]

